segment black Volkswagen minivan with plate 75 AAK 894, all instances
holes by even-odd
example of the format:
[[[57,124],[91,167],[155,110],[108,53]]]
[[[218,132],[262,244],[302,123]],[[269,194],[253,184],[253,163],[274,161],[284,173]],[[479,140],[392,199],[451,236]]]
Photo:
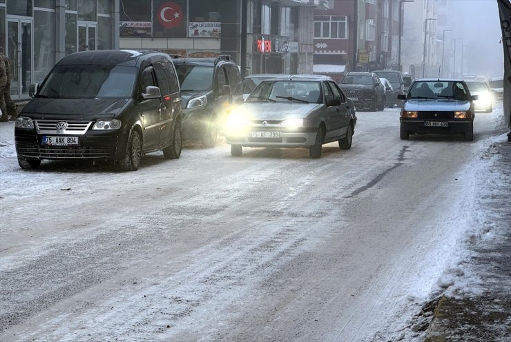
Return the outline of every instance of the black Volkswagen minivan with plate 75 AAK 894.
[[[37,169],[42,159],[115,161],[139,167],[142,154],[180,157],[180,86],[168,54],[95,50],[61,59],[15,124],[18,162]]]

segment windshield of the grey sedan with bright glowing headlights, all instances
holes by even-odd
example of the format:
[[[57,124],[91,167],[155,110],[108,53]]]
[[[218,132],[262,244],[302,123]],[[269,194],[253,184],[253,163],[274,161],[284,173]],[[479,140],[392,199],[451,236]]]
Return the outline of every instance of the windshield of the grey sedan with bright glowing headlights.
[[[320,83],[317,81],[263,81],[247,102],[320,103]]]

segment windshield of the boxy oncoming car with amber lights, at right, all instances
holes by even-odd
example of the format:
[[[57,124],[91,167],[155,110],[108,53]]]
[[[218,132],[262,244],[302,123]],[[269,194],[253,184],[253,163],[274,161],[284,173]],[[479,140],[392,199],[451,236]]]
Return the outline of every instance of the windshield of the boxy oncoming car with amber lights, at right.
[[[412,84],[407,99],[469,100],[468,92],[458,81],[417,81]]]

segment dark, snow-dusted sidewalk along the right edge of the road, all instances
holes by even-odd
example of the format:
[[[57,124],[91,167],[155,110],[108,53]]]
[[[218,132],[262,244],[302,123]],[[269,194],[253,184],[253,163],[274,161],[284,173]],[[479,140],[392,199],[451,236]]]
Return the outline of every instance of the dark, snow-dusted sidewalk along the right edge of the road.
[[[485,219],[474,222],[481,236],[467,242],[467,271],[477,279],[469,286],[479,291],[444,294],[425,342],[511,341],[511,143],[505,138],[483,155],[490,173],[476,175],[475,209]]]

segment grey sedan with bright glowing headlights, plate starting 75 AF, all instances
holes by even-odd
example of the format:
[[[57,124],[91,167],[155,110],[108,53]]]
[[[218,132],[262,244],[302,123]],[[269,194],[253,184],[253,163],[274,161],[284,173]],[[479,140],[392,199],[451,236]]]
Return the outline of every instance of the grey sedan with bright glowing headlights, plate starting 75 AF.
[[[329,77],[290,76],[267,79],[226,121],[231,154],[242,147],[308,148],[321,157],[322,144],[338,141],[351,148],[355,131],[354,104]]]

